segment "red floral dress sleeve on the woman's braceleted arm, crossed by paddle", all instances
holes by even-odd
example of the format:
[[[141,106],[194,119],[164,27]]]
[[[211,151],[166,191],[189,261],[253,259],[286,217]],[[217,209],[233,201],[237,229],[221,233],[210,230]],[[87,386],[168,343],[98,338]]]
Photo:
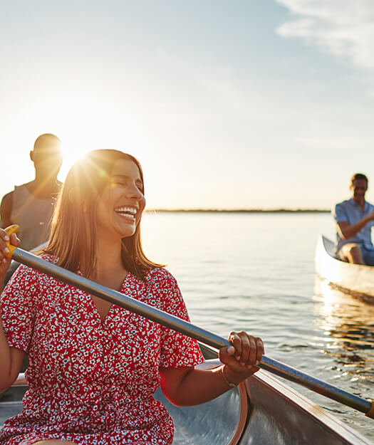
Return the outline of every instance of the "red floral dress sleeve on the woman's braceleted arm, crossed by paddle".
[[[187,308],[175,278],[165,271],[162,284],[162,300],[165,312],[189,321]],[[162,367],[193,367],[204,362],[197,341],[177,333],[175,330],[161,326],[160,366]]]

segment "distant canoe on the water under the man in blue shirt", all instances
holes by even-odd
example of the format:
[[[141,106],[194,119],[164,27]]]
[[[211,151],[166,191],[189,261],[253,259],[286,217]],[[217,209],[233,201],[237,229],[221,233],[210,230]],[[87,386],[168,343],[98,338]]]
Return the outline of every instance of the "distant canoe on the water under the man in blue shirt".
[[[316,274],[332,288],[355,298],[374,303],[374,267],[338,260],[333,241],[321,235],[315,257]]]

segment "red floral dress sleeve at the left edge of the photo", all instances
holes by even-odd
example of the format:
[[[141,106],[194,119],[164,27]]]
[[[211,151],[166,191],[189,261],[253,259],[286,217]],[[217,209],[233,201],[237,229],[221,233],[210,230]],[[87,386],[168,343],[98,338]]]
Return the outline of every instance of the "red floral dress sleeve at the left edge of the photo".
[[[19,266],[1,293],[1,322],[9,346],[28,353],[39,293],[36,271]]]

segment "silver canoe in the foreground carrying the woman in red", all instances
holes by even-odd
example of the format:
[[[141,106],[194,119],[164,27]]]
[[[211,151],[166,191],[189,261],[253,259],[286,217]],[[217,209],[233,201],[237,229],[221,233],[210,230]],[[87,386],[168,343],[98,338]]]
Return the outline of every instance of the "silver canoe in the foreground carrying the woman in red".
[[[202,346],[219,365],[217,353]],[[21,411],[22,386],[0,398],[0,422]],[[264,371],[212,402],[197,407],[175,407],[157,389],[175,424],[174,445],[373,445],[318,405]]]

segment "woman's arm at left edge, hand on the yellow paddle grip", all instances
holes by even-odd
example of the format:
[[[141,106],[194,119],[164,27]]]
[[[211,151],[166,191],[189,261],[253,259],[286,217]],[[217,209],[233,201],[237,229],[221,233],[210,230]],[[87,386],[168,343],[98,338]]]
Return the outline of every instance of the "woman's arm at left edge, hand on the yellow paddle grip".
[[[3,287],[4,276],[11,264],[11,258],[6,257],[9,249],[6,247],[6,241],[10,241],[14,246],[19,245],[19,239],[16,234],[9,236],[4,229],[0,229],[0,286]],[[9,347],[8,340],[4,333],[3,325],[0,323],[0,392],[14,383],[21,371],[22,361],[25,352],[16,348]]]

